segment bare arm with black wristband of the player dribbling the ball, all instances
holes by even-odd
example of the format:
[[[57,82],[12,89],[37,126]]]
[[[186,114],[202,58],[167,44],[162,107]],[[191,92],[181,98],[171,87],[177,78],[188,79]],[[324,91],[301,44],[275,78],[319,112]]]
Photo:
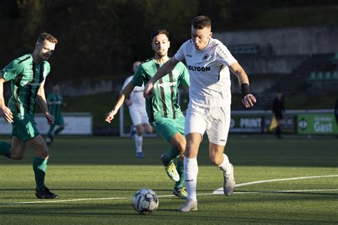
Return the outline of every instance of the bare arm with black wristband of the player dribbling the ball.
[[[240,66],[240,63],[232,63],[229,66],[232,73],[238,78],[238,83],[242,89],[242,103],[245,105],[245,108],[250,108],[257,102],[254,95],[250,93],[249,90],[249,78],[247,77],[247,73],[245,70]]]

